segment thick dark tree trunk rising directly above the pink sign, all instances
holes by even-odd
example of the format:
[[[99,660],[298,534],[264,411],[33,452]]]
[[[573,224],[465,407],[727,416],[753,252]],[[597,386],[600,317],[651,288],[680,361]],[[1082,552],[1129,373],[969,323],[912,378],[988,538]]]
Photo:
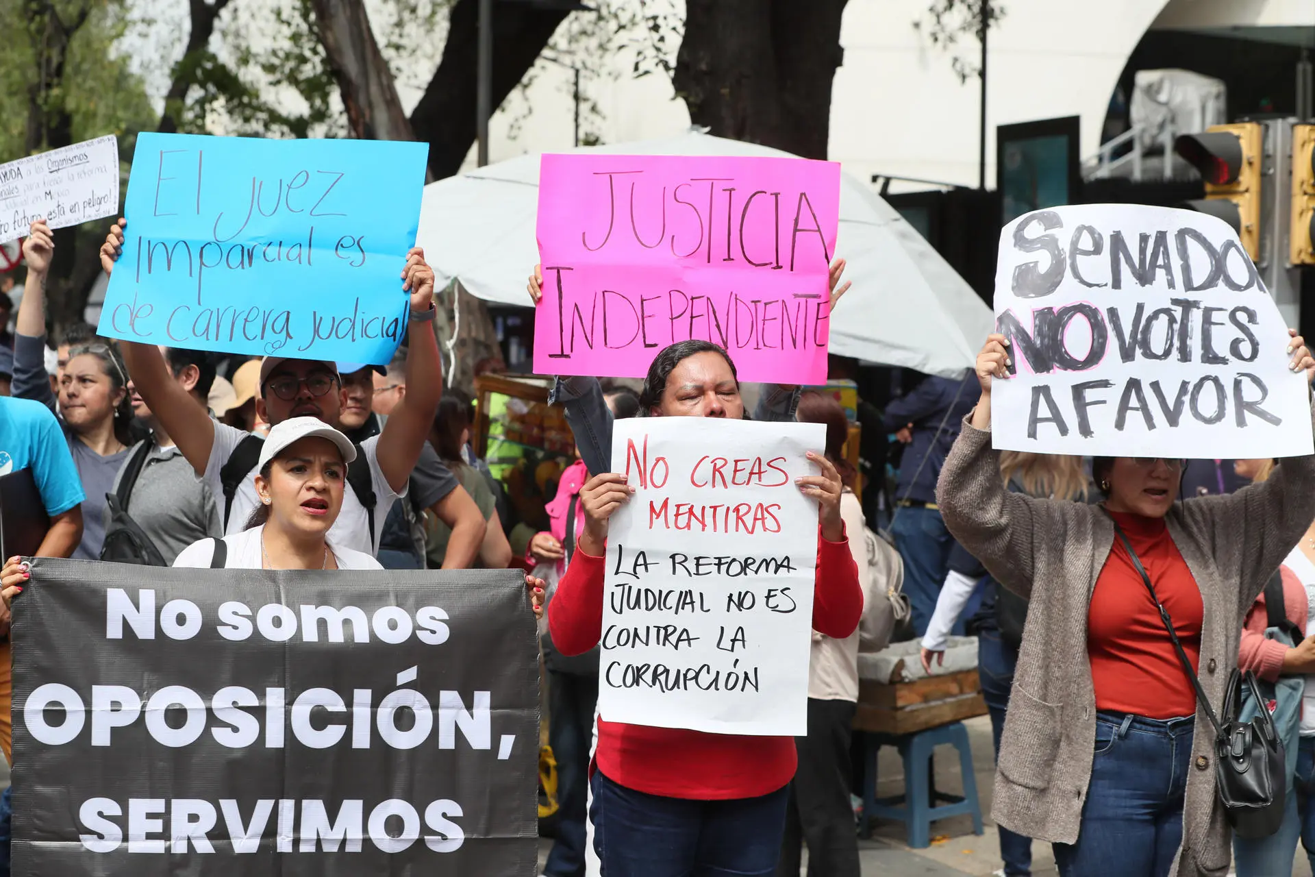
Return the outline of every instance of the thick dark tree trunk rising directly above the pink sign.
[[[688,0],[676,93],[718,137],[827,156],[846,0]]]

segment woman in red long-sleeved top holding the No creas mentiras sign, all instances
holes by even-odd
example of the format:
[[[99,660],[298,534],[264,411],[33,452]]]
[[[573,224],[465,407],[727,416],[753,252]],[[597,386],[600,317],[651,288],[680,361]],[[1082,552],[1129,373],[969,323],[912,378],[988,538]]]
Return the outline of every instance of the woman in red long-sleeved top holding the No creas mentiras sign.
[[[654,359],[639,397],[648,417],[744,415],[735,366],[702,341]],[[822,475],[798,480],[818,501],[813,628],[843,639],[863,613],[859,573],[840,519],[835,467],[809,454]],[[558,585],[548,623],[564,655],[593,648],[602,631],[608,519],[633,489],[601,473],[580,492],[585,527]],[[781,849],[794,739],[644,727],[598,719],[593,776],[594,845],[608,877],[771,874]]]

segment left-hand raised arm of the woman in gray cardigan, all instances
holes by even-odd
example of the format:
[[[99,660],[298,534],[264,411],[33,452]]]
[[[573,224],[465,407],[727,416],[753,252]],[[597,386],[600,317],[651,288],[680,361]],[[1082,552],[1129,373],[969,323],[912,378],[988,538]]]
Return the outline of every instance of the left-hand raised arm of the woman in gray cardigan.
[[[1032,593],[1032,529],[1039,500],[1010,493],[999,477],[999,455],[990,443],[992,380],[1003,377],[1007,344],[990,335],[977,354],[981,398],[964,418],[964,429],[945,458],[936,483],[936,502],[945,527],[990,571],[999,584],[1022,597]]]

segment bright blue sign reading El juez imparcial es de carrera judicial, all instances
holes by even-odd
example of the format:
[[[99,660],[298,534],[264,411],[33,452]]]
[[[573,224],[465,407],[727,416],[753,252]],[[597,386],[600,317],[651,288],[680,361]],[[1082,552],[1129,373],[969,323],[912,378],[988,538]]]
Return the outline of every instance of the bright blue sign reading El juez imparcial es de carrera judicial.
[[[426,143],[137,139],[101,335],[387,363],[406,330]]]

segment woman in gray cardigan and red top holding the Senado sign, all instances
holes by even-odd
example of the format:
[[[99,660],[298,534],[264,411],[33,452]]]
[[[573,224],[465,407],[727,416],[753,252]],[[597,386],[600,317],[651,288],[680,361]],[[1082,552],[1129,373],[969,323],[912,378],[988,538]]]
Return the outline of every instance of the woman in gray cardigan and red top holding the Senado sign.
[[[1315,360],[1291,333],[1293,371]],[[1181,460],[1098,458],[1101,506],[1009,493],[990,439],[1006,344],[977,356],[982,394],[940,472],[949,531],[1010,590],[1027,628],[995,773],[994,819],[1056,844],[1064,877],[1228,870],[1214,732],[1128,550],[1145,565],[1218,710],[1241,618],[1315,518],[1315,456],[1264,484],[1174,502]]]

